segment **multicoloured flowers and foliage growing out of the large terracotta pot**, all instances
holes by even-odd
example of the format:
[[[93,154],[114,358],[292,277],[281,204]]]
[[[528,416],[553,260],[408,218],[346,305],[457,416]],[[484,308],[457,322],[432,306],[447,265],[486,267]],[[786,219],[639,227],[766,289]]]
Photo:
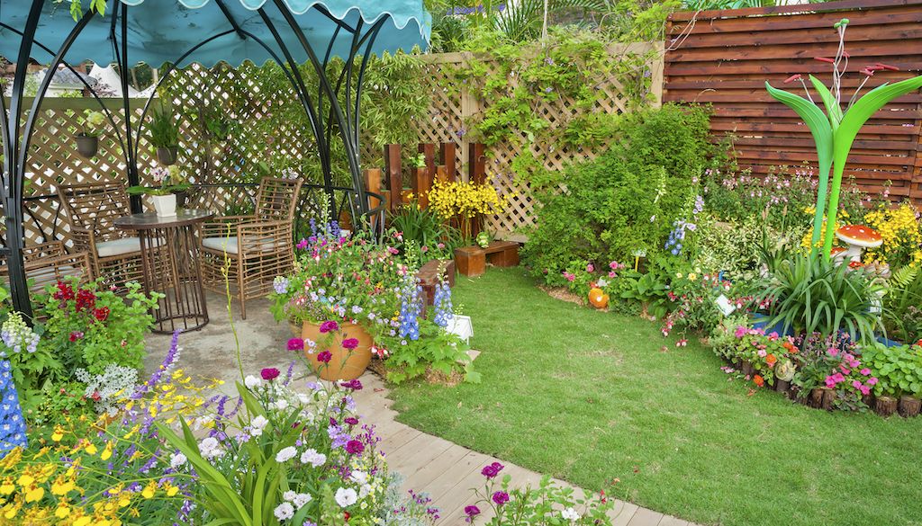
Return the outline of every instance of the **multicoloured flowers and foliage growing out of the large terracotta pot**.
[[[336,222],[317,226],[298,243],[289,275],[278,276],[270,294],[277,321],[352,322],[372,335],[396,334],[398,295],[411,269],[393,246],[364,233],[345,235]]]

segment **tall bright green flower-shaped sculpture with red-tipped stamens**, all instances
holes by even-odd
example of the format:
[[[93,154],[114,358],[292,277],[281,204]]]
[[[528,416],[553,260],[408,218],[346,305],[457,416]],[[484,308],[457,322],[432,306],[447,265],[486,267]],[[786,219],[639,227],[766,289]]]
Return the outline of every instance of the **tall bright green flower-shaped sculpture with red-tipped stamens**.
[[[835,24],[835,29],[839,31],[840,40],[845,41],[845,26],[848,24],[847,19]],[[841,78],[844,72],[838,70],[839,59],[842,57],[842,45],[840,45],[840,55],[835,61],[829,59],[820,59],[835,64],[835,73],[833,75]],[[868,66],[863,73],[869,77],[873,71],[881,68],[896,69],[892,66],[877,64]],[[792,76],[797,78],[799,76]],[[867,79],[865,79],[867,81]],[[795,111],[807,127],[810,128],[810,134],[813,135],[813,142],[816,143],[816,153],[818,161],[818,188],[816,198],[816,215],[813,217],[813,239],[812,247],[814,250],[820,241],[820,232],[822,231],[822,219],[825,213],[827,218],[826,231],[823,238],[822,252],[824,257],[829,257],[829,252],[833,248],[833,238],[835,236],[835,220],[839,210],[839,193],[842,190],[842,175],[845,173],[845,163],[848,161],[848,152],[852,149],[861,126],[868,122],[868,119],[876,111],[883,108],[888,102],[897,97],[902,97],[907,93],[922,88],[922,76],[907,78],[894,84],[885,83],[878,88],[870,90],[860,99],[855,100],[845,111],[836,95],[826,88],[820,80],[810,76],[810,84],[820,94],[822,104],[826,108],[823,113],[822,109],[811,99],[804,99],[793,93],[782,89],[772,88],[765,82],[765,89],[769,95],[779,102],[785,104],[788,108]],[[862,84],[863,86],[863,84]],[[806,85],[804,85],[806,88]],[[860,87],[858,88],[860,89]],[[829,172],[833,170],[833,184],[829,186]],[[829,193],[829,205],[826,207],[826,194]]]

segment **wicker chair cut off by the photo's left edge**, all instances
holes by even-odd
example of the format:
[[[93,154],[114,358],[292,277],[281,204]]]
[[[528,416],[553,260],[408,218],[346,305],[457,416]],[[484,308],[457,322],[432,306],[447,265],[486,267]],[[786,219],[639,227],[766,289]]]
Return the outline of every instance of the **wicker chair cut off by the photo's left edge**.
[[[64,243],[51,241],[26,247],[22,251],[25,263],[26,277],[30,280],[29,290],[32,293],[44,291],[46,286],[53,285],[66,277],[77,277],[80,283],[93,279],[87,252],[65,252]],[[0,258],[0,278],[9,281],[9,268],[6,258]]]

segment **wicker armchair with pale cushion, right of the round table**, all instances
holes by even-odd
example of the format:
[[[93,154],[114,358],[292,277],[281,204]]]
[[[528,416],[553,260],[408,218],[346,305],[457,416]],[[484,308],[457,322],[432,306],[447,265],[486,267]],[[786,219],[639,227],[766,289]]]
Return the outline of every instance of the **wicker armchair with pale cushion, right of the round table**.
[[[294,264],[292,229],[300,192],[300,179],[266,177],[259,182],[252,216],[218,217],[202,226],[205,286],[226,292],[222,271],[229,266],[227,279],[237,288],[243,319],[246,300],[268,294],[272,280]]]

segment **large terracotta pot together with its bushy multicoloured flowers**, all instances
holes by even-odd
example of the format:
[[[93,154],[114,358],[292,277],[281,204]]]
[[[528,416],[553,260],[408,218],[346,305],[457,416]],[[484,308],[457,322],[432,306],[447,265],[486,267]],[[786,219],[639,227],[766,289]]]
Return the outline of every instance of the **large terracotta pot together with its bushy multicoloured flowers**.
[[[343,235],[337,223],[312,221],[312,235],[290,275],[270,294],[278,321],[301,325],[304,354],[324,380],[352,380],[372,359],[376,334],[396,334],[398,290],[410,269],[396,249],[363,233]],[[345,344],[344,344],[345,343]]]

